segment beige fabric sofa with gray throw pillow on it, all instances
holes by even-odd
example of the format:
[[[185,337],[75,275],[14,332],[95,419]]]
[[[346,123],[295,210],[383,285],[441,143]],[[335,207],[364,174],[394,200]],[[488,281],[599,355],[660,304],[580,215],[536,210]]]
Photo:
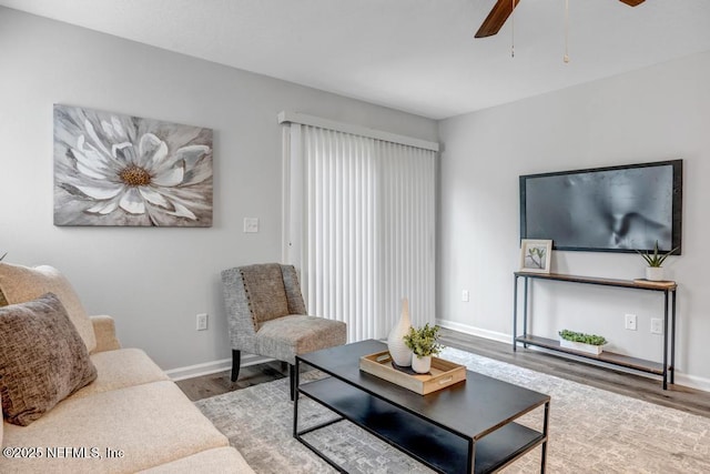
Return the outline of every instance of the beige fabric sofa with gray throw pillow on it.
[[[38,274],[39,283],[32,281]],[[253,472],[143,351],[120,347],[113,319],[80,314],[81,303],[54,269],[0,263],[2,310],[45,291],[81,326],[97,376],[27,426],[3,416],[1,473]]]

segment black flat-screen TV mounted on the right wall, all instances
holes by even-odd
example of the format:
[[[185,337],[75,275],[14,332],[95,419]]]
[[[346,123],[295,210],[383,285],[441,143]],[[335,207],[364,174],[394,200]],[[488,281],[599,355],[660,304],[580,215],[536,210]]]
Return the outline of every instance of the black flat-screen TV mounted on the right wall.
[[[520,177],[520,239],[556,250],[681,252],[682,160]]]

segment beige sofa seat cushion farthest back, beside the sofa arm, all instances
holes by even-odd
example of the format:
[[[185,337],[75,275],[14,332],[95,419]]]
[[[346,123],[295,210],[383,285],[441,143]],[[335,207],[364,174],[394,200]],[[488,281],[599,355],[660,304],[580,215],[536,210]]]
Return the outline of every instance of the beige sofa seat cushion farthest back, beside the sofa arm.
[[[170,380],[165,372],[140,349],[98,352],[91,354],[91,362],[99,373],[97,380],[74,393],[72,399]]]

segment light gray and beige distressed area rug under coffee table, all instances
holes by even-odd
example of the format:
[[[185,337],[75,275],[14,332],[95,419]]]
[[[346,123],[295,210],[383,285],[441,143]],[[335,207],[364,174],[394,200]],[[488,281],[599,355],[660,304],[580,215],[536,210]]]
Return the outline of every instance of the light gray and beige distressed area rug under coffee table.
[[[551,396],[548,472],[710,473],[710,418],[452,347],[440,357]],[[307,382],[320,376],[312,371],[301,379]],[[322,405],[303,396],[300,400],[300,427],[335,417]],[[287,379],[205,399],[196,405],[257,473],[336,472],[292,436]],[[541,409],[525,415],[520,423],[540,430]],[[307,440],[351,473],[432,472],[349,422],[313,432]],[[539,463],[537,447],[504,472],[536,473]]]

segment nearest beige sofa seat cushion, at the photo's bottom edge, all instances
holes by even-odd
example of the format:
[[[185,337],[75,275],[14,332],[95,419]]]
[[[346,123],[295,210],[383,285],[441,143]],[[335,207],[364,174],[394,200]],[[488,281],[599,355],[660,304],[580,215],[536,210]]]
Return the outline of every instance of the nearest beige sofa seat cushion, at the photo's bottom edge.
[[[193,474],[193,473],[220,473],[220,474],[248,474],[254,470],[246,464],[244,456],[234,447],[215,447],[203,451],[192,456],[151,467],[141,473],[150,474]]]

